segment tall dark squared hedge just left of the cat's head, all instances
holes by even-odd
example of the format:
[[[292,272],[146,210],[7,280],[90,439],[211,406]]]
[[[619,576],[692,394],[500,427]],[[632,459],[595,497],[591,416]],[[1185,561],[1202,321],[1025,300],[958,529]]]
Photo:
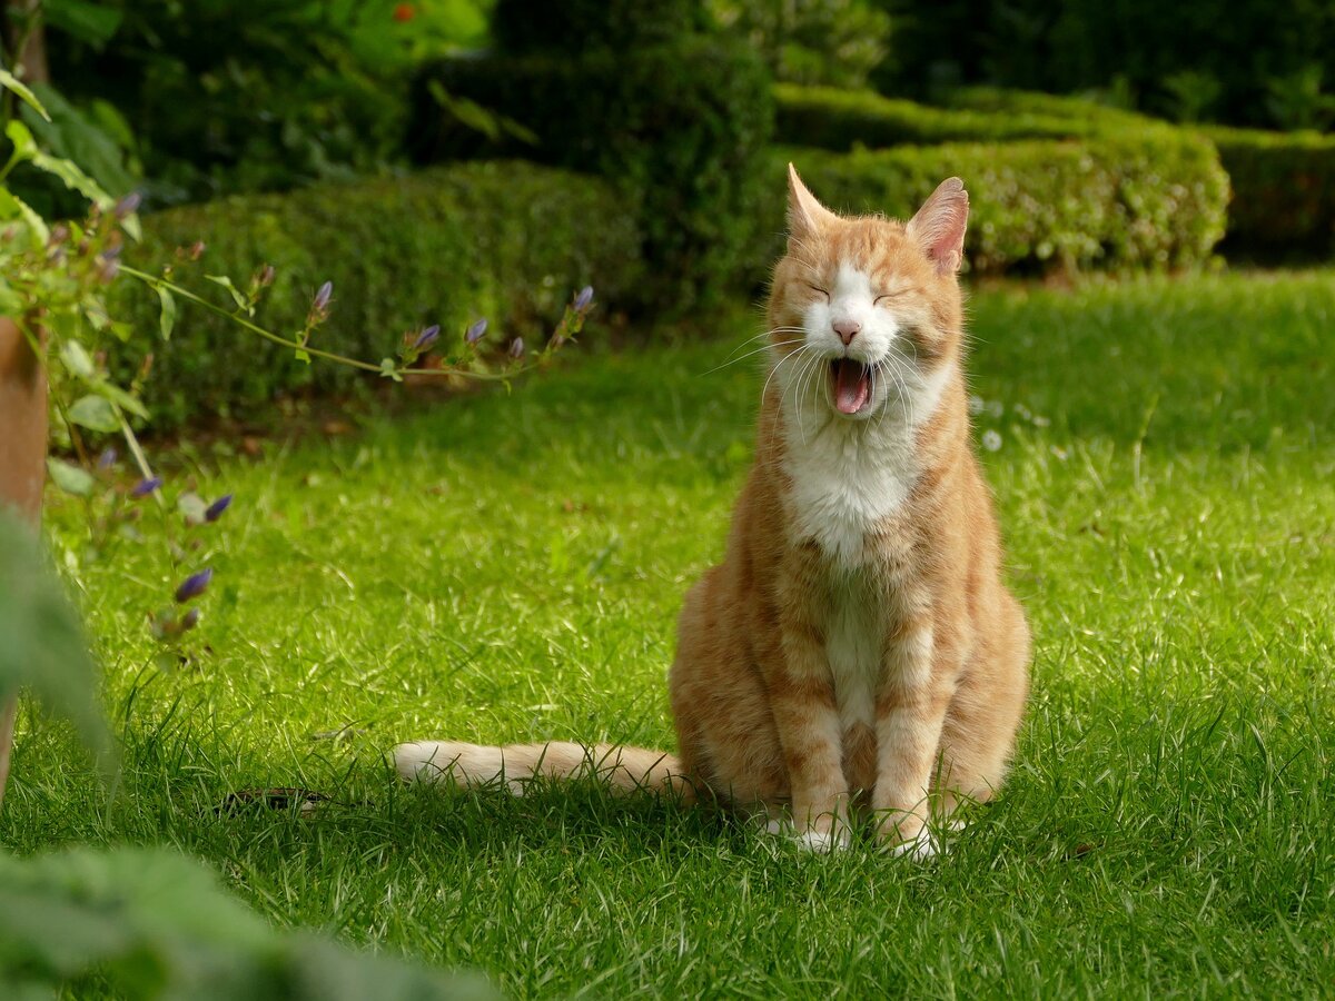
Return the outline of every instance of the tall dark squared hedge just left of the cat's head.
[[[497,143],[465,127],[431,100],[433,85],[519,121],[538,144]],[[712,299],[754,238],[770,79],[753,52],[729,40],[686,37],[570,60],[453,60],[419,80],[418,108],[425,160],[522,153],[601,174],[639,198],[649,304]]]

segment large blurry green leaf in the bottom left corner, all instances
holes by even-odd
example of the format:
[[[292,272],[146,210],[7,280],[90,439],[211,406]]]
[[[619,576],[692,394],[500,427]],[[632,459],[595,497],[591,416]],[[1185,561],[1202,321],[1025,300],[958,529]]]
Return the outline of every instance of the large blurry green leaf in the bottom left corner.
[[[166,849],[0,854],[0,997],[80,984],[125,998],[495,997],[481,978],[276,933]]]

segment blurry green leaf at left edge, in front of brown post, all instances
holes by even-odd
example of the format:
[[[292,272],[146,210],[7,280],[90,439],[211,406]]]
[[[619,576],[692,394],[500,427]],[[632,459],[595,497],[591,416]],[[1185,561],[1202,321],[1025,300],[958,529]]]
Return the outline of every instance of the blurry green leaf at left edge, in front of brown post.
[[[27,687],[99,754],[111,747],[79,613],[36,533],[0,509],[0,701]]]

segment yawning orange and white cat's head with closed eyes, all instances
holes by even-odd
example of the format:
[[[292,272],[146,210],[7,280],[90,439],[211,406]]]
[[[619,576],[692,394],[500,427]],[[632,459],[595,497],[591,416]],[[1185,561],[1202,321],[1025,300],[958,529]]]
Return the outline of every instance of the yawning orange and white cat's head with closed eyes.
[[[788,192],[788,254],[769,302],[785,394],[852,420],[912,407],[908,398],[960,350],[964,183],[941,182],[908,223],[836,215],[792,164]]]

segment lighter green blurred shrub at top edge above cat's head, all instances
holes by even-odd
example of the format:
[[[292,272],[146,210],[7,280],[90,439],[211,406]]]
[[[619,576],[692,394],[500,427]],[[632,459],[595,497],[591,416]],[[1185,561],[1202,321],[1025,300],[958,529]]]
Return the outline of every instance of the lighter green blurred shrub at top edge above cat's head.
[[[868,0],[710,0],[720,25],[761,53],[774,79],[862,87],[885,57],[890,19]]]

